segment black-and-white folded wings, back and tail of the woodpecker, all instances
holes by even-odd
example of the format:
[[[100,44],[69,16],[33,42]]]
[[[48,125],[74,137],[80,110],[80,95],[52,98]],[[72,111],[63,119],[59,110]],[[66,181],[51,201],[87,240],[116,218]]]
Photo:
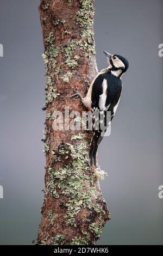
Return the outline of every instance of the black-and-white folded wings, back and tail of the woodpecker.
[[[90,158],[91,162],[93,159],[95,163],[98,145],[101,143],[106,129],[115,115],[116,108],[121,97],[121,85],[115,89],[109,86],[109,82],[111,81],[108,81],[105,75],[99,75],[93,83],[92,88],[92,141]],[[110,118],[108,114],[109,112],[111,114]]]

